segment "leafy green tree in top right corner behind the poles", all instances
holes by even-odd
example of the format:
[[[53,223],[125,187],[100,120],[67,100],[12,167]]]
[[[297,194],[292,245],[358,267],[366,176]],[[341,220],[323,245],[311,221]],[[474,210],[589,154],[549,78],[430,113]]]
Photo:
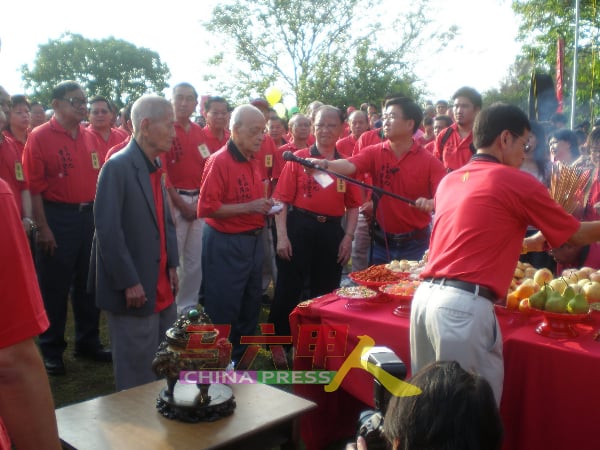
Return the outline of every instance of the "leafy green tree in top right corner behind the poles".
[[[575,2],[515,0],[513,10],[522,19],[518,35],[524,43],[521,57],[532,61],[535,69],[555,73],[557,41],[559,37],[565,39],[563,92],[566,109],[570,109],[566,99],[572,94]],[[589,119],[600,115],[600,12],[597,0],[581,0],[579,13],[576,112]]]

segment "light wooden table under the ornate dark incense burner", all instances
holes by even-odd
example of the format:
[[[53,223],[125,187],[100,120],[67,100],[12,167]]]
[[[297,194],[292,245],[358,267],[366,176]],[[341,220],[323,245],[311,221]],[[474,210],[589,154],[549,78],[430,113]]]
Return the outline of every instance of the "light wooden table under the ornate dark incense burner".
[[[263,384],[232,385],[237,407],[215,422],[183,423],[156,410],[164,380],[56,410],[65,448],[264,449],[298,447],[296,419],[316,404]]]

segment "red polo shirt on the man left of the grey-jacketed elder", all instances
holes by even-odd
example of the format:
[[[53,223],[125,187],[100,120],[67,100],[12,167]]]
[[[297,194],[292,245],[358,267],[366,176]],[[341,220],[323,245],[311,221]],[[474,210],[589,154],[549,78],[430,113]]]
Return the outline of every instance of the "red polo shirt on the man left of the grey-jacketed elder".
[[[34,128],[23,153],[31,193],[54,202],[93,201],[104,163],[104,154],[95,148],[94,138],[83,125],[79,125],[76,138],[55,117]]]

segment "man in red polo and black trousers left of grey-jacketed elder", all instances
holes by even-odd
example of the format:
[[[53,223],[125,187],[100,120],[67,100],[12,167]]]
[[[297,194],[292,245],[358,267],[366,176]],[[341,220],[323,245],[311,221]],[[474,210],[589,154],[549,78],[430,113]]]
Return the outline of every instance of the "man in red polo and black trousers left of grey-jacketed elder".
[[[34,220],[38,227],[37,263],[40,289],[50,328],[40,336],[49,374],[65,373],[62,354],[67,301],[71,292],[75,317],[75,355],[110,362],[100,344],[99,310],[87,290],[94,235],[92,208],[103,155],[89,131],[87,99],[81,86],[64,81],[52,91],[53,117],[36,127],[23,153]]]

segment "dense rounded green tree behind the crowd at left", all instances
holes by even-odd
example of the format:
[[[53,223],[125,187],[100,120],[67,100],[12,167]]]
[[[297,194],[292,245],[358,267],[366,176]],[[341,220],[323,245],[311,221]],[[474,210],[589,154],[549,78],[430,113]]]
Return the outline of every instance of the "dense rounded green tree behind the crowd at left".
[[[90,40],[71,33],[40,45],[33,68],[23,65],[21,71],[31,97],[44,104],[50,104],[54,86],[74,80],[88,95],[102,95],[119,108],[145,93],[161,93],[170,76],[156,52],[113,37]]]

